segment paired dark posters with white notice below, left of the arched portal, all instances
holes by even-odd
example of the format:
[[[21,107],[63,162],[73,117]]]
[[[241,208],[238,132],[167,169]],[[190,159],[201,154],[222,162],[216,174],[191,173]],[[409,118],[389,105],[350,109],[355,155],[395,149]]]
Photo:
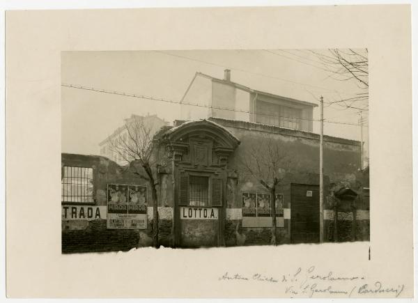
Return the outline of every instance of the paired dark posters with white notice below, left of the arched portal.
[[[107,185],[107,228],[145,229],[146,186]]]

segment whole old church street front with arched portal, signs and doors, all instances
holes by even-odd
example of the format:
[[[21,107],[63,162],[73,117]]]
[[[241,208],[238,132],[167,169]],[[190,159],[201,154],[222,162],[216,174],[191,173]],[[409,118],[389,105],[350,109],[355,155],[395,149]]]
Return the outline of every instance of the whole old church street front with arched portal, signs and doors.
[[[272,233],[277,244],[319,242],[318,134],[208,118],[175,121],[155,140],[164,247],[271,244]],[[324,142],[324,240],[369,240],[369,176],[359,170],[361,145],[327,136]],[[153,244],[150,185],[132,167],[63,154],[61,168],[63,253]],[[265,183],[274,184],[274,196]]]

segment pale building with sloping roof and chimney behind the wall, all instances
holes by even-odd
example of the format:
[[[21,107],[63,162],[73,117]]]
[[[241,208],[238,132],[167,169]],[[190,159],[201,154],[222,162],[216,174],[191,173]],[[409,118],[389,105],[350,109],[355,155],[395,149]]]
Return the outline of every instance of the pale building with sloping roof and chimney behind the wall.
[[[235,83],[231,70],[224,70],[224,79],[196,72],[180,103],[183,120],[215,117],[305,132],[312,132],[313,111],[318,106]]]

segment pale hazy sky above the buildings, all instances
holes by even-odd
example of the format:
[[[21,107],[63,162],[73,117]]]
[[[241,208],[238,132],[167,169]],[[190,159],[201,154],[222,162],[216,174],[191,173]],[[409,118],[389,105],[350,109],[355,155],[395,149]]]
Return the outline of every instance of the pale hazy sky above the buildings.
[[[327,50],[316,50],[327,54]],[[179,101],[195,72],[222,79],[231,70],[231,81],[288,98],[324,107],[324,134],[360,140],[359,110],[326,104],[359,93],[355,81],[338,81],[323,70],[318,58],[307,49],[188,50],[130,52],[62,52],[61,83],[98,90],[146,95]],[[355,107],[364,107],[358,102]],[[157,114],[172,123],[180,118],[180,105],[123,95],[61,86],[61,147],[63,153],[98,155],[98,143],[131,114]],[[365,153],[368,148],[368,114],[363,112]],[[314,120],[319,120],[319,107]],[[338,123],[330,123],[338,122]],[[314,132],[320,123],[314,121]]]

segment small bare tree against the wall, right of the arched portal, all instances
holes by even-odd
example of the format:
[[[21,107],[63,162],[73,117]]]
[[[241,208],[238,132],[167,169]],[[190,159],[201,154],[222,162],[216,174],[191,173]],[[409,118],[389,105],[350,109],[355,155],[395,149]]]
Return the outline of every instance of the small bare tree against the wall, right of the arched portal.
[[[291,157],[288,157],[286,151],[279,143],[274,141],[272,137],[268,137],[248,147],[240,162],[244,173],[258,180],[270,192],[272,215],[271,243],[276,245],[276,187],[284,180],[286,171],[291,164]]]

